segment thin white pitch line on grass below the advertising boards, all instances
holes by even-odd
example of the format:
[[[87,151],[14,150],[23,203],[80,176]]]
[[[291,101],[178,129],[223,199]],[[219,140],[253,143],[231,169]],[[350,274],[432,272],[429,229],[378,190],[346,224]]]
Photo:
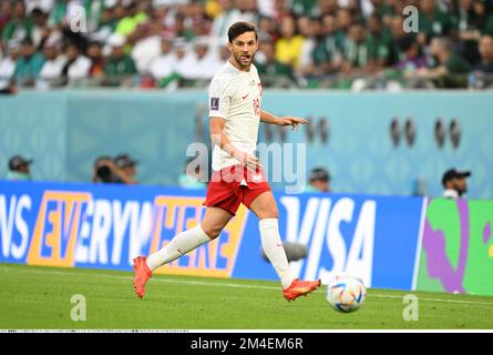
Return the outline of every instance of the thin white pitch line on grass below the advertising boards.
[[[11,271],[10,267],[0,266],[0,271]],[[19,272],[17,270],[16,272]],[[51,275],[63,275],[66,276],[68,273],[63,271],[54,271],[54,270],[22,270],[21,272],[28,273],[28,274],[51,274]],[[70,275],[78,275],[78,276],[86,276],[85,273],[79,273],[79,272],[71,272]],[[110,275],[104,273],[96,273],[92,274],[91,276],[97,276],[97,277],[104,277],[110,280],[125,280],[125,281],[132,281],[133,276],[125,276],[125,275]],[[158,275],[160,277],[155,277],[152,280],[152,282],[157,283],[168,283],[168,284],[185,284],[185,285],[201,285],[201,286],[218,286],[218,287],[232,287],[232,288],[250,288],[250,290],[268,290],[268,291],[278,291],[280,292],[279,287],[275,286],[261,286],[261,285],[245,285],[245,284],[235,284],[235,283],[219,283],[219,282],[209,282],[209,281],[187,281],[187,280],[174,280],[174,278],[165,278],[162,275]],[[412,292],[409,292],[412,294]],[[377,297],[377,298],[399,298],[402,300],[402,296],[398,295],[386,295],[386,294],[378,294],[378,293],[370,293],[368,294],[369,297]],[[460,300],[445,300],[445,298],[430,298],[430,297],[419,297],[419,301],[424,302],[443,302],[443,303],[455,303],[455,304],[475,304],[475,305],[484,305],[484,306],[492,306],[492,302],[479,302],[479,301],[460,301]]]

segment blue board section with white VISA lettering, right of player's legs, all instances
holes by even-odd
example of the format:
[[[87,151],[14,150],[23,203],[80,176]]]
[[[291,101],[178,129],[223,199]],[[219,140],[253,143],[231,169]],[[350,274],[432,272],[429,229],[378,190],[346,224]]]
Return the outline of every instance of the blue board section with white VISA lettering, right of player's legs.
[[[305,244],[296,276],[323,283],[338,273],[367,286],[411,290],[419,250],[421,197],[279,195],[281,234]]]

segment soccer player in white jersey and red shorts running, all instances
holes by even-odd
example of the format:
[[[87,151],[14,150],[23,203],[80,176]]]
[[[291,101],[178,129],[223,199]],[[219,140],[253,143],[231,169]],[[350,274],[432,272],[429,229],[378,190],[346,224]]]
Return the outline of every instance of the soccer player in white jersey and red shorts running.
[[[134,290],[141,298],[154,270],[218,237],[240,203],[259,220],[261,245],[280,278],[286,300],[306,295],[320,285],[320,280],[300,281],[291,275],[279,235],[276,201],[254,153],[259,122],[298,130],[308,121],[278,118],[260,109],[261,83],[253,64],[258,49],[255,27],[248,22],[232,24],[228,41],[229,61],[216,73],[209,88],[209,128],[215,148],[204,219],[174,236],[158,252],[134,258]]]

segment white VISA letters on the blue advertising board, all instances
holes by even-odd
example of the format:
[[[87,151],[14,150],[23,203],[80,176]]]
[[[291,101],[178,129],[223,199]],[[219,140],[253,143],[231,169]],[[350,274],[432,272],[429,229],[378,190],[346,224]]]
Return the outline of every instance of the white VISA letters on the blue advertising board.
[[[335,274],[347,272],[371,285],[373,263],[374,220],[377,203],[364,201],[359,214],[355,214],[355,201],[311,197],[308,200],[300,222],[300,201],[283,196],[281,204],[287,212],[287,235],[289,242],[310,245],[305,261],[291,263],[295,274],[302,278],[320,277],[327,283]],[[341,223],[356,223],[352,241],[347,244],[340,231]],[[300,227],[298,227],[300,225]],[[332,267],[320,265],[321,254],[332,258]]]

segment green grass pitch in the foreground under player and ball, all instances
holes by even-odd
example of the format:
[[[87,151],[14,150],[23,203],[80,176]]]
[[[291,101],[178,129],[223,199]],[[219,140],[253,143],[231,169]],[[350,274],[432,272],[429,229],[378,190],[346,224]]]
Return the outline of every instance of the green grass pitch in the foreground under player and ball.
[[[0,264],[0,328],[44,329],[464,329],[493,328],[493,297],[413,292],[419,321],[405,322],[410,292],[369,290],[362,307],[333,311],[322,286],[288,303],[276,282],[161,276],[146,297],[133,274]],[[71,297],[86,300],[86,321],[73,322]]]

